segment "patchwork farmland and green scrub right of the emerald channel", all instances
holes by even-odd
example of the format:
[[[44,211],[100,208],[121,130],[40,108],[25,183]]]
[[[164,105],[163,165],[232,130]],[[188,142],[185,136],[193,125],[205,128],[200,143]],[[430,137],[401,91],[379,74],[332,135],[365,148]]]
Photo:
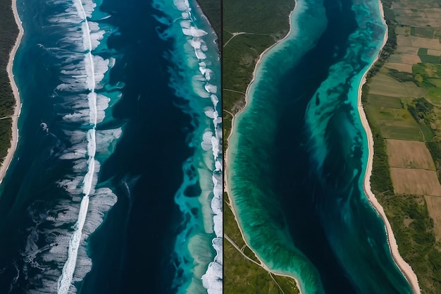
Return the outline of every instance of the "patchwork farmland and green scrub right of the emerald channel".
[[[441,6],[384,5],[394,50],[382,54],[362,99],[380,175],[371,181],[422,293],[441,293],[440,267],[429,262],[441,257]]]

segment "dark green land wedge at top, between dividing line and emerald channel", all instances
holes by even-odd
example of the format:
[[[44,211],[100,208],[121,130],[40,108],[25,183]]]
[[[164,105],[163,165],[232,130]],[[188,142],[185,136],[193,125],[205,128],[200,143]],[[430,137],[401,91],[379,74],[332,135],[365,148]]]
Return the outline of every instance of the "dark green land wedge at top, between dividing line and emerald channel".
[[[245,105],[245,92],[260,54],[290,29],[294,0],[223,1],[223,121],[230,135],[231,114]],[[268,16],[272,16],[268,18]],[[244,34],[234,35],[240,32]],[[236,91],[236,92],[235,92]],[[224,144],[227,147],[226,142]]]

